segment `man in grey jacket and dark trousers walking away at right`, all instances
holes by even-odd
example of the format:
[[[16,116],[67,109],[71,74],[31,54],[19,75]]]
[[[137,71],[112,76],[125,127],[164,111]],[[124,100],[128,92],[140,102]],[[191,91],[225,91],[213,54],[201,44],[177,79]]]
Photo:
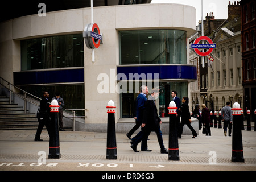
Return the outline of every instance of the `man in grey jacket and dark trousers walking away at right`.
[[[229,126],[229,136],[231,136],[232,130],[232,110],[230,108],[230,102],[226,102],[226,106],[222,108],[221,111],[222,121],[224,120],[224,135],[226,136],[226,131]]]

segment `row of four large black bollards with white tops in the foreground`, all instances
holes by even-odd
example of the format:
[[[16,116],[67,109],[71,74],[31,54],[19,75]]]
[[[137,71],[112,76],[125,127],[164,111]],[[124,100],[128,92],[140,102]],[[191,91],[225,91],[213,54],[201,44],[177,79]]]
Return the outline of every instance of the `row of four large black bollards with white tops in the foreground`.
[[[58,115],[59,105],[56,100],[51,102],[51,129],[49,130],[49,159],[60,158],[60,141],[58,130]],[[108,102],[108,129],[106,142],[106,159],[117,159],[117,142],[115,135],[115,106],[114,102]],[[179,156],[179,142],[177,138],[177,122],[179,117],[176,116],[176,104],[171,101],[168,107],[169,110],[169,148],[168,160],[180,160]],[[242,126],[241,126],[241,108],[236,102],[232,108],[233,115],[233,135],[232,135],[232,162],[245,162],[243,158],[243,144],[242,144]],[[256,115],[256,110],[255,110]],[[219,121],[220,122],[220,121]],[[217,123],[217,122],[216,122]]]

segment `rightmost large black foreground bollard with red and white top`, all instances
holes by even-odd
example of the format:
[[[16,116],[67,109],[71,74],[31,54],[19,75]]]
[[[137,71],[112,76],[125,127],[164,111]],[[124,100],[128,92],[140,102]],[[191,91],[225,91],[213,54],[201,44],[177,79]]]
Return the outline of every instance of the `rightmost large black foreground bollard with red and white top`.
[[[233,115],[233,134],[232,134],[232,162],[245,162],[243,158],[243,142],[241,130],[241,108],[235,102],[232,108]]]

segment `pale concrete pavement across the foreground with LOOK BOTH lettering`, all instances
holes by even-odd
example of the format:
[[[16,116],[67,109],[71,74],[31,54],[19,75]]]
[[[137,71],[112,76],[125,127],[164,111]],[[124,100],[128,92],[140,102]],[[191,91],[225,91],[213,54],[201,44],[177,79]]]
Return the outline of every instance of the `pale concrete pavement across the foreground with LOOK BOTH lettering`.
[[[253,128],[254,129],[254,128]],[[256,132],[242,130],[245,163],[231,162],[232,137],[223,129],[211,128],[212,136],[201,134],[195,139],[183,135],[179,139],[179,161],[160,154],[155,133],[148,148],[138,145],[135,153],[126,134],[117,133],[117,160],[106,159],[106,133],[60,131],[60,159],[48,159],[49,136],[42,131],[43,142],[35,142],[35,130],[0,130],[0,170],[86,170],[86,171],[173,171],[173,170],[256,170]],[[168,149],[168,135],[163,135]]]

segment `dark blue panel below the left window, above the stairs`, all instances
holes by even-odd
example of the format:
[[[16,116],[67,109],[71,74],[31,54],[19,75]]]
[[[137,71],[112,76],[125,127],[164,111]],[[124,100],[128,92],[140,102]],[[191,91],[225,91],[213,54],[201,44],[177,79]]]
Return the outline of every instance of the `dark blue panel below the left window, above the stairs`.
[[[14,85],[84,82],[84,69],[14,72]]]

